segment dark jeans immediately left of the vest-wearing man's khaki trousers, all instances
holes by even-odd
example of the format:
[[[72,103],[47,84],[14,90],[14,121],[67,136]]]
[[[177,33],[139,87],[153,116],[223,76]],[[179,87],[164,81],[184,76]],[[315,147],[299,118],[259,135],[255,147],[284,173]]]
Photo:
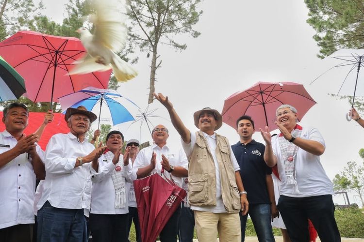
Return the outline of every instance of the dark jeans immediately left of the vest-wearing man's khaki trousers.
[[[178,239],[180,242],[193,241],[193,228],[195,227],[195,216],[190,208],[181,203],[181,216],[178,225]]]

